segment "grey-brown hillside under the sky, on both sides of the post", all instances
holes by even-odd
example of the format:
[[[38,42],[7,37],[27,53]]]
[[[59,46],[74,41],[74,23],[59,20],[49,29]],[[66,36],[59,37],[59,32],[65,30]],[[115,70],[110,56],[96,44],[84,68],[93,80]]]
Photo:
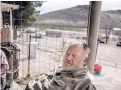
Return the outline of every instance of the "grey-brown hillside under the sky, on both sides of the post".
[[[88,7],[88,5],[78,5],[76,7],[42,14],[38,17],[36,24],[86,28]],[[121,28],[121,10],[101,12],[100,28],[106,28],[106,26],[110,28],[111,25]]]

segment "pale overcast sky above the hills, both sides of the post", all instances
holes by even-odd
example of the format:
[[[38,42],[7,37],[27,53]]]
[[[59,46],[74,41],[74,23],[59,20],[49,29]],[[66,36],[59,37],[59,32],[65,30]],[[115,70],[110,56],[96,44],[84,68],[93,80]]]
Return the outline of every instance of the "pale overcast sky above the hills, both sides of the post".
[[[89,0],[45,0],[41,10],[41,14],[52,12],[60,9],[74,7],[76,5],[89,5]],[[121,10],[121,0],[102,1],[102,10]]]

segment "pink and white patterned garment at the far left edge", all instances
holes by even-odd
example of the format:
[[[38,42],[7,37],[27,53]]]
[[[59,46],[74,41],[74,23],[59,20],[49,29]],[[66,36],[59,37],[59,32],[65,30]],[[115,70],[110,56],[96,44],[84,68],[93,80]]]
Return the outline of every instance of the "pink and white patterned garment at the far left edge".
[[[6,78],[6,71],[9,69],[8,61],[4,52],[0,49],[0,79]]]

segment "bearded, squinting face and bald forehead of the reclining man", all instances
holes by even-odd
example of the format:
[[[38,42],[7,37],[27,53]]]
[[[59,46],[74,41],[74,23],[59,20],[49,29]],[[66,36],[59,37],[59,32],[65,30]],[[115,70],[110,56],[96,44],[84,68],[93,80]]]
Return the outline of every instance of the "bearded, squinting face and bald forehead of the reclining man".
[[[75,70],[82,68],[84,65],[84,55],[85,51],[80,46],[69,47],[63,61],[63,69],[65,70]]]

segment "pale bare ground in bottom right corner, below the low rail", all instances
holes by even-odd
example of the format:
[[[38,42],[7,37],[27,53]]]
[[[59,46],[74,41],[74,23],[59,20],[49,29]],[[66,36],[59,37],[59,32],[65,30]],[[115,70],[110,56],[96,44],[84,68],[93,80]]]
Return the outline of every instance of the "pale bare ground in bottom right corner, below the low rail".
[[[121,90],[121,70],[103,66],[100,76],[95,77],[97,90]]]

